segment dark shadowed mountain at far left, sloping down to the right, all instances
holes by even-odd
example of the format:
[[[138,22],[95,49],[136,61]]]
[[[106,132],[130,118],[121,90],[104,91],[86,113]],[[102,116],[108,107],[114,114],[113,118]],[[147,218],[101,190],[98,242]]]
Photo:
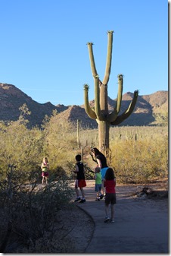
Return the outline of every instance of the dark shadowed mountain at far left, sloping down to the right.
[[[31,115],[27,116],[30,126],[40,126],[45,115],[51,115],[55,109],[58,112],[67,109],[64,105],[54,106],[49,102],[45,104],[37,103],[14,85],[0,83],[0,120],[16,121],[20,116],[19,108],[24,103],[31,112]]]

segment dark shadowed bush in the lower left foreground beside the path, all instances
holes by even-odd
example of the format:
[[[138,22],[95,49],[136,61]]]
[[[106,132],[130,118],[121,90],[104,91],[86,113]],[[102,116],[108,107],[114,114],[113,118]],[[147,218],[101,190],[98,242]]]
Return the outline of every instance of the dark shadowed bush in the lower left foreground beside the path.
[[[19,172],[9,169],[0,182],[0,247],[5,245],[5,252],[14,252],[19,245],[32,247],[45,233],[58,232],[58,212],[70,203],[74,191],[70,180],[62,175],[58,181],[49,181],[47,186],[28,184],[28,172],[20,176]],[[32,177],[33,180],[33,177]],[[36,178],[34,179],[36,180]],[[8,226],[11,224],[10,235]],[[11,238],[10,238],[11,237]],[[10,238],[10,239],[9,239]],[[15,245],[14,245],[15,244]],[[3,251],[4,252],[4,251]]]

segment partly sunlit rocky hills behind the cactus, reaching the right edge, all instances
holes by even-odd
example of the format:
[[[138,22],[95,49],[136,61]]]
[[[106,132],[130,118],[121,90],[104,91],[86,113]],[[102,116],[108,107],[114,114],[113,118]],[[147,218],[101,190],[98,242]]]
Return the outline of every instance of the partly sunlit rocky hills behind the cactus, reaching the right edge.
[[[124,112],[131,102],[133,93],[125,93],[123,95],[122,106],[120,109],[120,114]],[[116,100],[111,100],[108,97],[108,109],[113,110]],[[90,102],[91,106],[94,106],[94,100]],[[138,96],[138,101],[136,103],[134,112],[120,125],[166,125],[168,114],[168,92],[158,91],[151,95]],[[159,119],[159,117],[161,117]],[[93,119],[89,119],[86,114],[84,105],[82,106],[70,106],[64,112],[61,112],[57,116],[57,120],[68,120],[70,122],[75,122],[78,119],[82,127],[86,128],[97,128],[97,122]]]

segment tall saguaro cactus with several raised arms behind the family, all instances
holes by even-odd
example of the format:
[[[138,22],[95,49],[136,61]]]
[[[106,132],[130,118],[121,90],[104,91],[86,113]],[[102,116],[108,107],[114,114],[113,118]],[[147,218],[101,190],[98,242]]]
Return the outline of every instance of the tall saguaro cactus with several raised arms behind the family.
[[[91,108],[89,105],[89,85],[84,85],[84,101],[87,115],[91,119],[95,119],[98,123],[98,137],[99,137],[99,150],[107,155],[109,150],[109,130],[110,125],[119,125],[125,119],[131,115],[137,98],[138,90],[135,90],[132,102],[129,104],[128,109],[119,115],[120,106],[123,96],[123,74],[118,74],[118,94],[117,102],[112,112],[108,111],[107,105],[107,83],[110,78],[110,68],[112,60],[112,46],[113,46],[113,31],[108,31],[108,43],[107,43],[107,62],[104,74],[104,80],[101,81],[98,77],[98,73],[95,68],[95,59],[93,55],[92,45],[93,43],[87,43],[89,49],[89,58],[92,68],[92,76],[94,77],[95,83],[95,107]]]

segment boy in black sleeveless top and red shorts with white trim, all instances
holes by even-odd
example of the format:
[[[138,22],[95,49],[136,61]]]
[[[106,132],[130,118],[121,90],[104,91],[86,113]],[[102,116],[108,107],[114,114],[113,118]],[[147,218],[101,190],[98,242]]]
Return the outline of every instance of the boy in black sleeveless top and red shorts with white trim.
[[[76,169],[73,171],[76,173],[76,182],[75,182],[75,191],[76,191],[76,200],[75,202],[79,201],[79,203],[85,203],[85,194],[84,194],[84,187],[86,187],[86,179],[84,175],[84,166],[81,162],[81,155],[76,155]],[[82,199],[79,196],[79,189],[82,194]]]

